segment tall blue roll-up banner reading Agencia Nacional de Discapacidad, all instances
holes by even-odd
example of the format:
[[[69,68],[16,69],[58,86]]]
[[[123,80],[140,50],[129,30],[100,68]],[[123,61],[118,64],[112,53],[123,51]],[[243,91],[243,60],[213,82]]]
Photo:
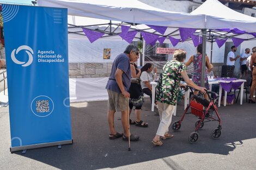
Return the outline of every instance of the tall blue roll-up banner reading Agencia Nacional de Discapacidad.
[[[2,5],[13,151],[72,143],[67,12]]]

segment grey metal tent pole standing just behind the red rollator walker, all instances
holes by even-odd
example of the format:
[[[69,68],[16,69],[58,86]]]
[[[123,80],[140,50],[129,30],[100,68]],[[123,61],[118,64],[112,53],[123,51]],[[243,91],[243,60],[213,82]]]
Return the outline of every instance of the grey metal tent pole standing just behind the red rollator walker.
[[[201,72],[201,87],[204,87],[204,77],[205,77],[205,52],[206,52],[206,29],[202,29],[203,33],[203,44],[202,44],[202,72]]]

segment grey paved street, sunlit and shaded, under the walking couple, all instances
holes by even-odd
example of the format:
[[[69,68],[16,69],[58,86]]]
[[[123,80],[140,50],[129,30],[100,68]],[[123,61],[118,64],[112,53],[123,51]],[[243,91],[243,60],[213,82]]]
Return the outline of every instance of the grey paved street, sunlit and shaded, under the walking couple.
[[[245,96],[245,95],[244,95]],[[70,106],[74,143],[57,147],[27,150],[26,154],[9,152],[10,129],[7,108],[0,108],[0,169],[256,169],[256,104],[221,106],[222,136],[210,137],[217,122],[205,123],[199,131],[199,141],[188,143],[197,118],[187,115],[179,131],[170,132],[174,138],[163,141],[163,146],[151,144],[159,116],[150,111],[149,98],[143,105],[143,121],[148,128],[131,125],[131,133],[140,136],[138,142],[121,138],[108,139],[106,119],[107,101],[73,103]],[[239,103],[239,102],[237,102]],[[182,115],[182,104],[177,116]],[[115,116],[116,128],[121,131],[120,112]],[[132,119],[135,119],[134,111]]]

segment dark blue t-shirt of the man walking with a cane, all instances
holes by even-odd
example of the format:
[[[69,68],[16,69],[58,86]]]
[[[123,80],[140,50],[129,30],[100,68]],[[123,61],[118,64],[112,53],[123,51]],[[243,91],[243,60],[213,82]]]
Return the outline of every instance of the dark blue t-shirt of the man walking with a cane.
[[[129,90],[131,85],[131,66],[129,57],[125,53],[119,54],[112,65],[109,80],[107,81],[106,89],[121,93],[117,81],[115,81],[115,71],[117,68],[123,70],[122,80],[126,91]]]

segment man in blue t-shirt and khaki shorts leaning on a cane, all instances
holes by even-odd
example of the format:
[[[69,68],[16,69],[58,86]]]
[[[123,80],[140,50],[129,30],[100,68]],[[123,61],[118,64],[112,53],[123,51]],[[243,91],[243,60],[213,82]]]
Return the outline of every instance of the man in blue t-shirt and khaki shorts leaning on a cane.
[[[131,85],[131,66],[130,61],[135,60],[139,55],[139,49],[134,45],[126,47],[124,53],[119,54],[112,65],[112,70],[108,78],[106,89],[108,92],[108,125],[109,139],[114,140],[123,137],[123,140],[138,141],[139,136],[130,134],[129,128],[129,106],[127,100],[130,93],[127,92]],[[123,124],[124,134],[118,133],[114,128],[114,114],[121,111],[121,121]]]

